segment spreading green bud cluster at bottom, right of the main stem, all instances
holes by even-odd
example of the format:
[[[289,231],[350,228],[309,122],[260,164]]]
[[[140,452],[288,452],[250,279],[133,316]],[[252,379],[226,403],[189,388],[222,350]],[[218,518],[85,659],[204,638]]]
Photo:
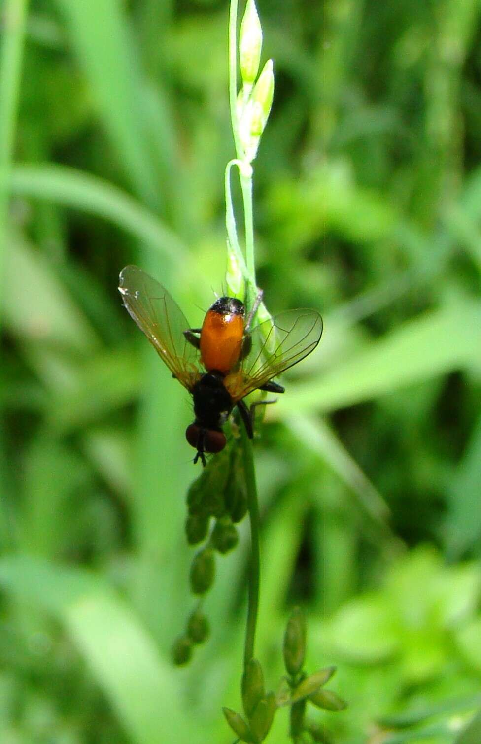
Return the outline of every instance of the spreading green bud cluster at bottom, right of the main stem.
[[[302,610],[293,610],[284,633],[284,666],[287,671],[287,689],[278,693],[278,705],[290,705],[290,736],[294,742],[308,733],[315,742],[329,740],[323,726],[305,720],[308,702],[325,711],[343,711],[346,703],[332,690],[322,687],[331,679],[336,667],[325,667],[308,676],[303,671],[306,649],[306,626]]]

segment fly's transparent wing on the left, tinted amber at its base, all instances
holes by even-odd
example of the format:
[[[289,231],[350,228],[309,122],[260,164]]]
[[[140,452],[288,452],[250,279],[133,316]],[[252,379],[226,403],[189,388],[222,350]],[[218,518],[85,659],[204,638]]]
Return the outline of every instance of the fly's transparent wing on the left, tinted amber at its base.
[[[118,291],[131,318],[160,358],[179,382],[191,390],[200,374],[199,352],[185,339],[184,331],[190,326],[167,289],[138,266],[126,266],[120,273]]]

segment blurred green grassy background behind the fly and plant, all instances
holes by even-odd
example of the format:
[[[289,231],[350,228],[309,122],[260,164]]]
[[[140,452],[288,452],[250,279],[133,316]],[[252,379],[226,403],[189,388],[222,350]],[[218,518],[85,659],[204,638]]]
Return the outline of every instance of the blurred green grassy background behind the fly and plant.
[[[231,744],[247,525],[177,670],[191,402],[117,292],[138,263],[197,325],[222,289],[227,3],[0,10],[0,741]],[[273,687],[298,603],[335,741],[450,743],[481,708],[481,6],[258,10],[258,283],[325,331],[255,443],[257,655]]]

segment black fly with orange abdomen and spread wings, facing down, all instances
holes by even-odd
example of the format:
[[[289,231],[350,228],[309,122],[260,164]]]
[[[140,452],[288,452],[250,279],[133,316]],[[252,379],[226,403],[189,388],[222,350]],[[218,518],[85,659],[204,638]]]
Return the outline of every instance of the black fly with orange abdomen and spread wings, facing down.
[[[122,269],[118,290],[124,305],[157,353],[194,398],[194,423],[185,437],[205,453],[226,446],[223,424],[237,405],[252,438],[252,415],[245,401],[254,390],[283,393],[273,377],[313,351],[322,335],[316,310],[287,310],[251,330],[260,296],[246,318],[240,300],[221,297],[209,308],[202,328],[189,327],[182,310],[162,284],[138,269]]]

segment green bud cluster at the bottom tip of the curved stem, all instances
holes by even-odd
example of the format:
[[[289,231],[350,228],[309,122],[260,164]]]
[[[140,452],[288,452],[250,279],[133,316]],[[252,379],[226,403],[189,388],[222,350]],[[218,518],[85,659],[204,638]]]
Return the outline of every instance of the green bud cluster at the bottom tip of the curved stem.
[[[242,676],[242,703],[247,720],[231,708],[223,708],[226,721],[240,741],[263,742],[273,725],[278,706],[275,694],[265,691],[264,673],[255,658],[246,664]]]

